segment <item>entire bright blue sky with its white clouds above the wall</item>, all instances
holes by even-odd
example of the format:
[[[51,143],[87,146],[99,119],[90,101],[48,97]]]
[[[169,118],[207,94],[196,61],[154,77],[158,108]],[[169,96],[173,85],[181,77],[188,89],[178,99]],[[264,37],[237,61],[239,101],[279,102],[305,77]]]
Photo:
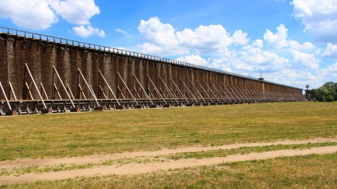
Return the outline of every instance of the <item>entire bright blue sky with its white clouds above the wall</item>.
[[[0,0],[0,26],[300,88],[337,82],[336,0]]]

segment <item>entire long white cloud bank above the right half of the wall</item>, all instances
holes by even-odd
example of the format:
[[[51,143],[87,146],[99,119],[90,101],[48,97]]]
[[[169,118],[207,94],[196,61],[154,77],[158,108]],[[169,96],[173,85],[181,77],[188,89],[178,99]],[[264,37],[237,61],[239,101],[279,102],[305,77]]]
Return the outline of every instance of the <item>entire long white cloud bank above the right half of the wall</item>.
[[[138,45],[145,54],[180,55],[176,60],[245,76],[260,76],[285,85],[303,87],[319,85],[322,75],[313,74],[322,60],[320,48],[310,42],[299,43],[288,36],[288,29],[281,24],[273,33],[266,29],[263,38],[251,40],[240,29],[230,34],[222,25],[200,25],[196,28],[175,29],[159,18],[141,20],[138,26],[144,43]],[[240,48],[241,47],[241,48]],[[328,45],[324,56],[335,53],[335,46]],[[323,55],[322,55],[323,56]],[[325,63],[325,62],[324,62]],[[327,68],[328,69],[328,68]],[[329,67],[329,73],[331,73]]]

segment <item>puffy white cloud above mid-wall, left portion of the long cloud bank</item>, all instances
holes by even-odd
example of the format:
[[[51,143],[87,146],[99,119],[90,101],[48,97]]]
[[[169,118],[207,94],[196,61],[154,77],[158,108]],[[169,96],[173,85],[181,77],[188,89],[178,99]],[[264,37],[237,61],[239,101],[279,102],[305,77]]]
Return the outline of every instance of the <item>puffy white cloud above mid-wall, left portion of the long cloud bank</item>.
[[[162,50],[165,52],[164,55],[184,55],[188,52],[197,52],[198,54],[223,52],[232,44],[244,45],[249,41],[246,38],[247,34],[243,31],[237,30],[230,36],[230,33],[222,25],[200,25],[195,29],[186,28],[176,31],[172,25],[160,22],[157,17],[147,21],[141,20],[138,31],[145,40],[145,43],[140,45],[143,52],[158,53],[159,50]]]

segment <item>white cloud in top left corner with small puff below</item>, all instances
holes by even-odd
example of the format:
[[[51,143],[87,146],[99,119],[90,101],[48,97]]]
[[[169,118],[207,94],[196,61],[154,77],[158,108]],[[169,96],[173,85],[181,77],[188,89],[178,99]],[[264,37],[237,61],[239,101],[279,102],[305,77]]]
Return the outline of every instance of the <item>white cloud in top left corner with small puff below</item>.
[[[46,29],[61,17],[79,27],[76,34],[105,36],[101,29],[90,26],[89,20],[100,13],[93,0],[7,0],[0,1],[0,18],[10,19],[18,27]],[[87,25],[84,27],[83,25]]]

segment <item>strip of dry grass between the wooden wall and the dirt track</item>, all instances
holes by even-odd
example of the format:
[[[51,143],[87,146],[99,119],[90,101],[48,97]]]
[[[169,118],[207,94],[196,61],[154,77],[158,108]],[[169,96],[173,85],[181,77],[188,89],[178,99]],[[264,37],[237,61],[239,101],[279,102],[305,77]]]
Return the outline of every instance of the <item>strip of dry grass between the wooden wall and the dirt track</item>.
[[[336,112],[296,102],[4,117],[0,160],[336,137]]]

